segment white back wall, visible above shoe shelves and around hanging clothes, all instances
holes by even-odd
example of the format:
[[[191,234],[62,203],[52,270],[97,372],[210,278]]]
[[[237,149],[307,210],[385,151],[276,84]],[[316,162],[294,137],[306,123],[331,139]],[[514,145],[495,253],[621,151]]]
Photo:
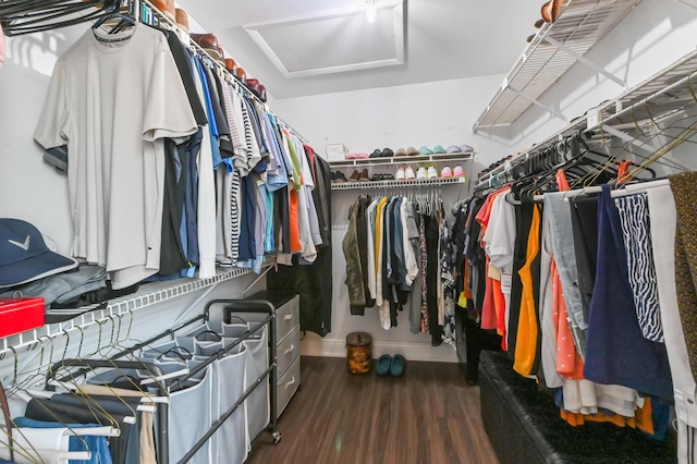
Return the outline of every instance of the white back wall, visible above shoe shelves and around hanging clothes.
[[[496,160],[510,152],[510,147],[470,133],[473,122],[486,106],[503,76],[443,81],[398,87],[375,88],[311,97],[277,99],[274,110],[291,121],[318,152],[325,145],[344,144],[351,151],[371,152],[376,148],[416,148],[436,144],[467,144],[478,157]],[[406,159],[407,160],[407,159]],[[486,161],[488,164],[491,161]],[[476,173],[477,162],[470,173]],[[468,164],[465,164],[468,168]],[[351,170],[346,170],[346,175]],[[461,184],[442,186],[445,205],[467,195]],[[341,248],[347,229],[347,213],[356,191],[332,192],[333,304],[332,332],[323,341],[311,334],[304,342],[306,354],[343,356],[345,337],[352,331],[367,331],[374,337],[374,353],[403,353],[407,359],[455,361],[450,345],[432,347],[430,335],[408,330],[408,314],[401,313],[398,327],[386,331],[379,326],[376,308],[366,316],[352,316],[344,279],[345,259]]]

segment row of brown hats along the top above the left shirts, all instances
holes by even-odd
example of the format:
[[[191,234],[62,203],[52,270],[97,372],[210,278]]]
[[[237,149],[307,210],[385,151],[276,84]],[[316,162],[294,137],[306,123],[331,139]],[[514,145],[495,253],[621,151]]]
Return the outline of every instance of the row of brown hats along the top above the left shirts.
[[[182,30],[188,34],[192,40],[206,50],[206,52],[228,70],[230,74],[236,76],[254,95],[266,102],[266,86],[257,78],[247,77],[247,72],[234,59],[225,58],[225,52],[218,44],[218,38],[215,34],[191,34],[188,30],[188,15],[183,9],[175,8],[173,0],[152,0],[152,4],[162,12],[162,14],[175,22]]]

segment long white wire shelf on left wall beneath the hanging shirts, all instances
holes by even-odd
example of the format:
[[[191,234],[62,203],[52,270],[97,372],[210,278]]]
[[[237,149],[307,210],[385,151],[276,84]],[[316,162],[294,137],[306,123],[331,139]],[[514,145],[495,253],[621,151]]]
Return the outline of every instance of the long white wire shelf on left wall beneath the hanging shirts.
[[[208,279],[184,278],[167,282],[148,283],[135,293],[111,300],[103,309],[96,309],[98,305],[84,306],[75,309],[75,317],[73,319],[63,322],[47,323],[36,329],[0,339],[0,354],[13,349],[16,351],[23,346],[32,346],[42,341],[49,341],[56,337],[64,335],[68,331],[82,330],[88,326],[101,323],[110,317],[119,317],[127,313],[136,312],[150,305],[162,303],[200,289],[206,289],[249,272],[252,272],[252,269],[231,268],[220,270],[215,277]],[[70,314],[71,312],[72,309],[64,312],[56,310],[52,314]]]

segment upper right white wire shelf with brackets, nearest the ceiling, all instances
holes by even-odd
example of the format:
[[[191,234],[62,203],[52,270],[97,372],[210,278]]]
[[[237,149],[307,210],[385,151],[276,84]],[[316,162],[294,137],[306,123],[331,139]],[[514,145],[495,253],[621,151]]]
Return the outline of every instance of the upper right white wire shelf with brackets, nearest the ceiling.
[[[583,56],[640,1],[567,0],[557,21],[546,23],[526,47],[474,124],[473,132],[512,124],[531,105],[566,120],[555,109],[539,103],[538,98],[574,63],[582,61],[592,65]],[[620,81],[614,76],[611,78]]]

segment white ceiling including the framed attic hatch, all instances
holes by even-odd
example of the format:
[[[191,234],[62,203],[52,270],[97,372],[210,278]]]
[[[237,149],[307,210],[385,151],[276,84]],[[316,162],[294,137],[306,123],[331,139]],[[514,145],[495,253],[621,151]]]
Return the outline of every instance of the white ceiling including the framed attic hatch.
[[[375,1],[372,24],[365,0],[178,3],[274,98],[506,73],[543,3]]]

